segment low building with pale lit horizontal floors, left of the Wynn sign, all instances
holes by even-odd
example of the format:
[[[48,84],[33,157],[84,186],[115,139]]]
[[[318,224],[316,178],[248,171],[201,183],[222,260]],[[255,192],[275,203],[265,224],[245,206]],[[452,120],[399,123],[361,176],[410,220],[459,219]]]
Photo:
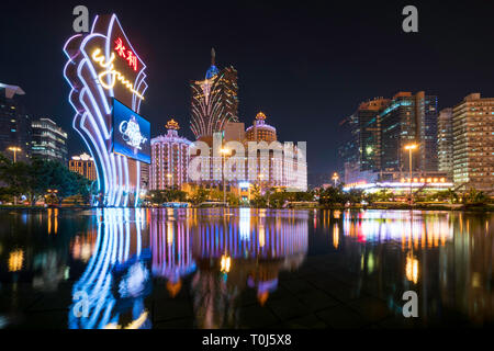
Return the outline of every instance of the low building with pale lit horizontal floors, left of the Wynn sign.
[[[50,118],[31,123],[33,138],[31,154],[45,160],[67,163],[67,133]]]

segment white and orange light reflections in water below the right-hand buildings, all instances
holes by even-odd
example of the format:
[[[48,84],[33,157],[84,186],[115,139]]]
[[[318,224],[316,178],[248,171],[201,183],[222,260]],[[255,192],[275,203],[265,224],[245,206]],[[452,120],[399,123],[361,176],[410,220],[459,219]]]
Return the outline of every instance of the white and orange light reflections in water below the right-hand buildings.
[[[343,227],[341,261],[357,273],[357,294],[378,294],[401,314],[402,294],[413,290],[420,324],[451,312],[482,324],[494,318],[492,222],[489,214],[346,211],[332,231]],[[335,248],[338,241],[341,246],[339,235]]]

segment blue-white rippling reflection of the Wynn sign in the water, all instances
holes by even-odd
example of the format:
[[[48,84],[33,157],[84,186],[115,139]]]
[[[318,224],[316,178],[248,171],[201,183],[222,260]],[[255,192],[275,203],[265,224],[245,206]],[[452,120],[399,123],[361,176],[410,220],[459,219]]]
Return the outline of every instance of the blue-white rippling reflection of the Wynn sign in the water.
[[[98,236],[82,276],[72,287],[70,329],[150,328],[144,298],[150,293],[149,249],[143,249],[142,211],[98,210]],[[134,220],[132,220],[134,219]]]

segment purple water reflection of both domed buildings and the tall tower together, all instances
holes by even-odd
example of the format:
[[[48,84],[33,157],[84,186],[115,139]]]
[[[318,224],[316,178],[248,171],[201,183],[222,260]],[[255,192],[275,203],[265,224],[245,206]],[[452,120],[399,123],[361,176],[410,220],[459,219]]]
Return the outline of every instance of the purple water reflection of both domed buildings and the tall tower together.
[[[276,291],[280,270],[303,262],[307,219],[305,213],[271,217],[250,208],[154,211],[153,273],[168,280],[171,296],[191,275],[198,328],[238,327],[240,293],[254,288],[262,305]]]

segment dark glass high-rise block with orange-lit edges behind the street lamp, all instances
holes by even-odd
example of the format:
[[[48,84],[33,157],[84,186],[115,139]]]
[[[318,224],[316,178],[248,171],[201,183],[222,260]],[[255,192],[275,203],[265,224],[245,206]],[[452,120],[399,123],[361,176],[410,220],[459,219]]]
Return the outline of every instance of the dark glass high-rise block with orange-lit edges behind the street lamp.
[[[412,171],[437,172],[438,99],[398,92],[393,99],[377,98],[359,105],[340,123],[347,140],[339,147],[345,183],[377,172],[408,172],[408,144],[417,144]]]

